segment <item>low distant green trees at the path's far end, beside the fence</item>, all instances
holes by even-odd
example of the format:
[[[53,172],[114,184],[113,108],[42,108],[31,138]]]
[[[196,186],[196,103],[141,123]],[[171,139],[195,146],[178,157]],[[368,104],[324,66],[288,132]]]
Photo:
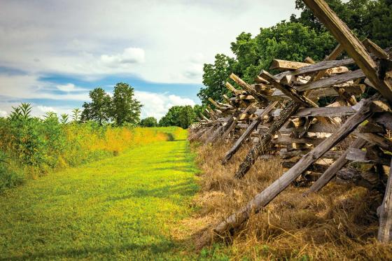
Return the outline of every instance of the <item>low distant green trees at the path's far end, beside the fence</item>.
[[[196,114],[192,106],[173,106],[169,108],[166,115],[160,119],[159,125],[178,126],[187,129],[196,119]]]

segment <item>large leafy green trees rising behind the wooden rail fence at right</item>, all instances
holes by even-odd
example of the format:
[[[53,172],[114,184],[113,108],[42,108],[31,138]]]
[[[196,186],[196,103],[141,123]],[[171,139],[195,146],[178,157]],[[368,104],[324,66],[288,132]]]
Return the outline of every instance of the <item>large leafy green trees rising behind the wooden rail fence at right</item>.
[[[326,2],[358,38],[370,38],[381,48],[392,45],[392,0]],[[320,61],[335,48],[335,39],[301,0],[295,1],[295,8],[301,10],[300,15],[291,15],[288,21],[260,28],[256,36],[246,32],[239,34],[231,43],[235,57],[217,54],[213,64],[204,64],[204,87],[197,94],[204,106],[209,97],[216,101],[223,101],[223,94],[230,97],[225,87],[230,73],[254,83],[261,69],[269,69],[272,59],[302,62],[309,56]]]

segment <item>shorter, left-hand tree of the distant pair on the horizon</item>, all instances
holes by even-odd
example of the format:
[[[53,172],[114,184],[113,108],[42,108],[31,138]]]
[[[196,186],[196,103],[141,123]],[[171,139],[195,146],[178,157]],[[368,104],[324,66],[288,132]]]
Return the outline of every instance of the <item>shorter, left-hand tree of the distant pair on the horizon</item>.
[[[102,125],[104,122],[109,121],[111,108],[111,97],[101,87],[97,87],[89,93],[91,102],[83,104],[83,112],[81,120],[95,120]]]

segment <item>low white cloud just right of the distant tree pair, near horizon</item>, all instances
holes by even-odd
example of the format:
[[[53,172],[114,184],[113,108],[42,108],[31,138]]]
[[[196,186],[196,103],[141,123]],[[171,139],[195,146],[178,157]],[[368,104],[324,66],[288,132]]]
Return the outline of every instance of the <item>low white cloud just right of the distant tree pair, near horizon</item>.
[[[195,105],[195,101],[177,95],[159,94],[154,92],[135,91],[135,97],[143,107],[141,108],[141,118],[153,116],[158,120],[165,116],[170,107],[176,105]]]

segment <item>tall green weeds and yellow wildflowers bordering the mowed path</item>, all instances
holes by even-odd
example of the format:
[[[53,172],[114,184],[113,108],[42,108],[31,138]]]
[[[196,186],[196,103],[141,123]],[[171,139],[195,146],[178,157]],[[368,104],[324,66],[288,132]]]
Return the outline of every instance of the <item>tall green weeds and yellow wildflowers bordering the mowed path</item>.
[[[113,127],[97,122],[66,123],[55,113],[30,115],[22,104],[0,118],[0,192],[52,169],[116,156],[135,146],[170,139],[165,128]]]

